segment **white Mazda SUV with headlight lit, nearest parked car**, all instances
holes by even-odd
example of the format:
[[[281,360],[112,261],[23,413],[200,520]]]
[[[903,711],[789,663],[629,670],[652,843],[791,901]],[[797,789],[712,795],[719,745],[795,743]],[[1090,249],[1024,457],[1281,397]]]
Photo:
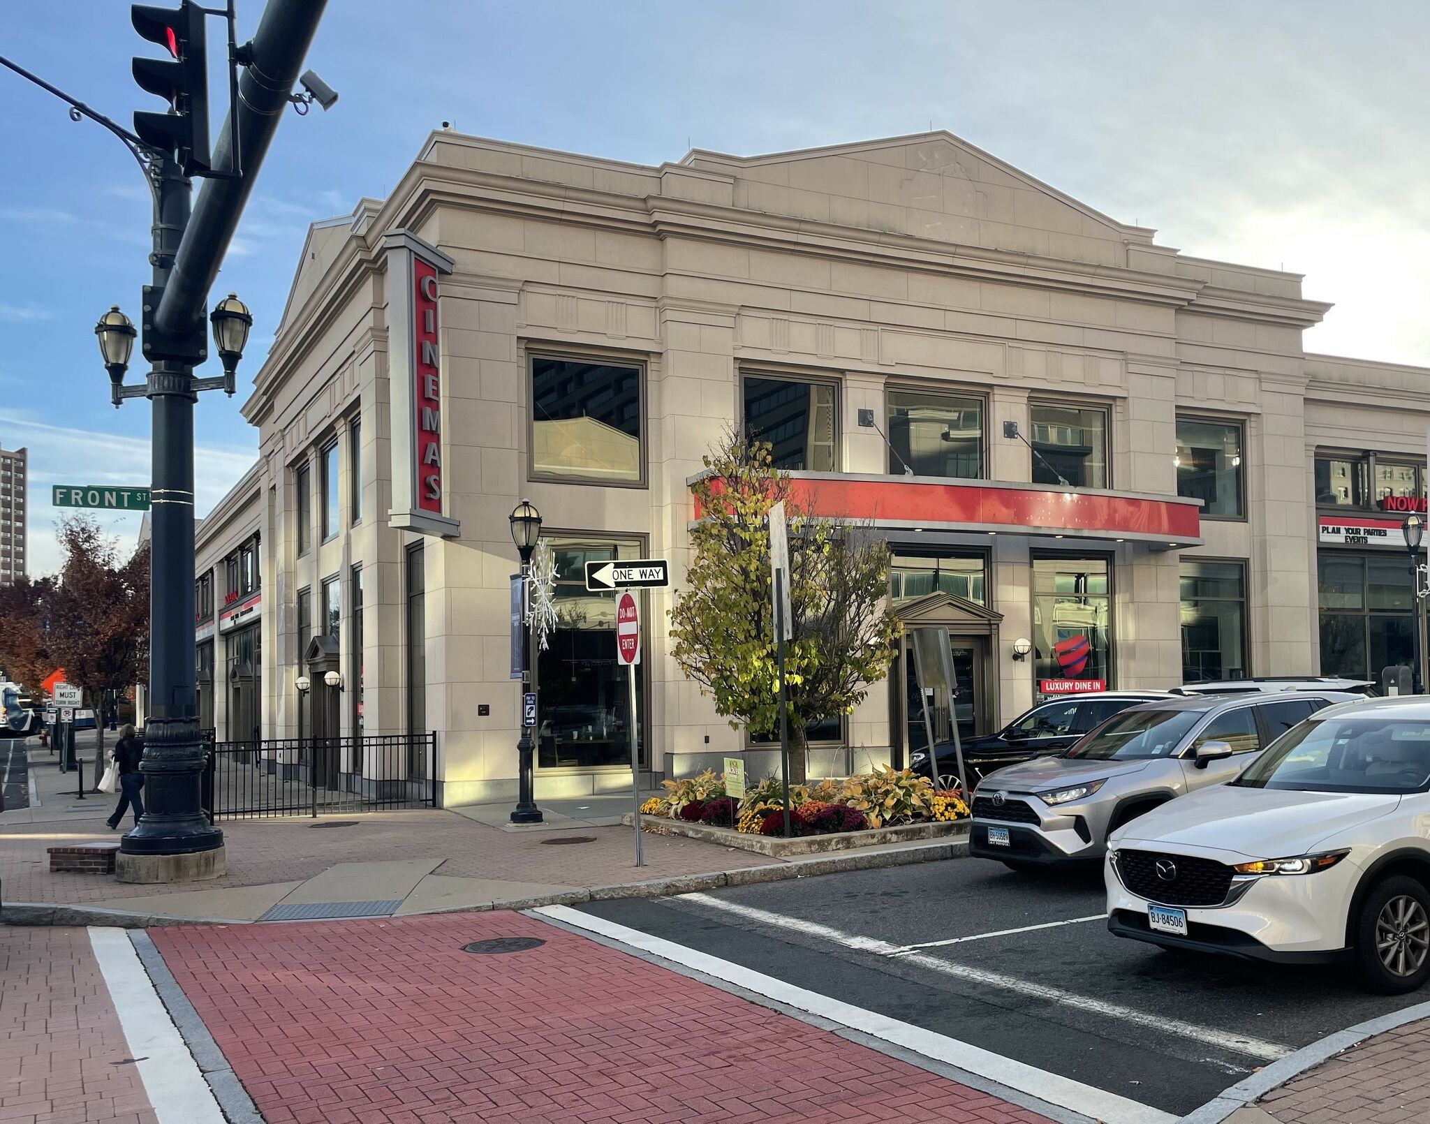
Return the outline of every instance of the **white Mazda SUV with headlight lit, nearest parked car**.
[[[1430,699],[1320,711],[1230,784],[1113,834],[1108,928],[1261,961],[1430,977]]]

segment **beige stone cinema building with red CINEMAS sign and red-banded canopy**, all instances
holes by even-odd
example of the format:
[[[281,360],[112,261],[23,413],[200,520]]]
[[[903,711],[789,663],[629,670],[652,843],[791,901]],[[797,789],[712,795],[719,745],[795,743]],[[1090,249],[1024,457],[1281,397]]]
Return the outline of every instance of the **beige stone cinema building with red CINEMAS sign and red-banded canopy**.
[[[1430,372],[1306,353],[1328,307],[948,133],[661,166],[433,133],[303,246],[243,408],[260,460],[200,532],[210,721],[435,729],[443,802],[512,797],[529,498],[559,609],[538,797],[628,785],[615,605],[582,563],[668,558],[678,588],[731,426],[888,539],[965,731],[1074,688],[1379,676],[1410,659]],[[764,771],[671,659],[669,605],[644,621],[644,768]],[[814,772],[905,759],[911,664],[809,729]]]

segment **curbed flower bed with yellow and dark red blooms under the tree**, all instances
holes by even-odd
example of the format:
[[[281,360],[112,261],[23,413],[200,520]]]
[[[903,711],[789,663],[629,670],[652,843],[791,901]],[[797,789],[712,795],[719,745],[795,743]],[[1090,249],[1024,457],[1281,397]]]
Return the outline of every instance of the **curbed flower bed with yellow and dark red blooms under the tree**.
[[[766,777],[735,799],[725,794],[724,774],[709,769],[684,781],[664,781],[665,795],[641,805],[646,817],[675,824],[702,824],[742,835],[784,837],[784,785]],[[912,824],[951,824],[967,818],[958,789],[935,789],[912,769],[878,769],[844,781],[791,785],[791,837],[844,835]],[[686,834],[686,832],[681,832]],[[908,832],[904,832],[908,834]]]

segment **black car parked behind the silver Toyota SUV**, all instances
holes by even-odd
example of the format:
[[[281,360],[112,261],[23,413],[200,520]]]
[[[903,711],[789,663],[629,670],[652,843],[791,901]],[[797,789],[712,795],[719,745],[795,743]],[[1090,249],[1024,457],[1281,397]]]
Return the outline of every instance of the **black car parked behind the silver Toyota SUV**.
[[[1017,765],[1050,754],[1061,754],[1093,726],[1100,725],[1114,714],[1135,706],[1140,702],[1170,698],[1167,691],[1098,691],[1040,702],[1031,711],[1024,711],[997,734],[985,734],[964,739],[964,768],[968,784],[977,785],[994,769]],[[938,742],[932,756],[917,749],[909,754],[908,765],[915,772],[927,774],[940,788],[958,784],[958,759],[951,741]]]

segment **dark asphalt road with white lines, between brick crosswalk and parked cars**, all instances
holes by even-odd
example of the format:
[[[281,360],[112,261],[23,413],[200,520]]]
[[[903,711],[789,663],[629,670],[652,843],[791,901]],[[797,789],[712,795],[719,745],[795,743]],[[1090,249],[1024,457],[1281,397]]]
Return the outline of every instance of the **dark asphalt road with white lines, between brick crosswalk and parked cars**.
[[[581,908],[1178,1115],[1317,1038],[1430,1000],[1369,995],[1341,967],[1120,940],[1103,904],[1095,875],[965,858]]]

